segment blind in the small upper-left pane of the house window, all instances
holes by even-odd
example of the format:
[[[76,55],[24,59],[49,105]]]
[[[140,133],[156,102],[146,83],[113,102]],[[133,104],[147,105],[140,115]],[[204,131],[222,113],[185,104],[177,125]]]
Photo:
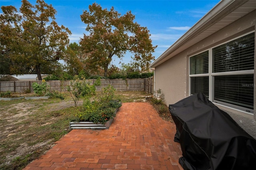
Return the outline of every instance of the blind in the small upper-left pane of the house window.
[[[190,74],[208,73],[209,69],[209,51],[190,57]]]

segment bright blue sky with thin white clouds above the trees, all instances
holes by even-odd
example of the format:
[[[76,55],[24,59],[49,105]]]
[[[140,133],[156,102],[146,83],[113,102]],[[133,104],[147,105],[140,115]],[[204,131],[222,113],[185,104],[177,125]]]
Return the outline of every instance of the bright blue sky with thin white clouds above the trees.
[[[29,0],[35,4],[36,0]],[[86,25],[81,21],[83,10],[96,2],[108,10],[113,6],[121,15],[131,11],[141,26],[150,30],[152,44],[158,45],[153,55],[157,59],[168,47],[176,42],[189,28],[198,22],[220,0],[45,0],[52,4],[58,25],[66,26],[71,32],[70,42],[77,42],[86,34]],[[0,0],[0,6],[21,6],[21,0]],[[0,10],[2,13],[2,10]],[[127,53],[121,62],[129,63]],[[115,59],[112,64],[119,65]]]

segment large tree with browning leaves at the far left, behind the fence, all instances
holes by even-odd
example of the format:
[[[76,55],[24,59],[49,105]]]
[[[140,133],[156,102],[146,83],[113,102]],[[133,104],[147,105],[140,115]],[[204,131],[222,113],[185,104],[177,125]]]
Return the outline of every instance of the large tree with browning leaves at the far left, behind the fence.
[[[48,70],[62,59],[69,44],[68,28],[58,26],[56,10],[44,0],[33,6],[22,0],[18,11],[14,6],[2,6],[0,15],[0,50],[12,61],[11,73],[36,73]]]

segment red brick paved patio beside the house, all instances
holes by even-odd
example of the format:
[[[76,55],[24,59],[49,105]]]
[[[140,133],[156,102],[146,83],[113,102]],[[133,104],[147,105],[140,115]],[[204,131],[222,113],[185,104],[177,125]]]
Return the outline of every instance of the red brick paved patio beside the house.
[[[183,170],[175,132],[149,103],[123,103],[109,129],[73,129],[23,170]]]

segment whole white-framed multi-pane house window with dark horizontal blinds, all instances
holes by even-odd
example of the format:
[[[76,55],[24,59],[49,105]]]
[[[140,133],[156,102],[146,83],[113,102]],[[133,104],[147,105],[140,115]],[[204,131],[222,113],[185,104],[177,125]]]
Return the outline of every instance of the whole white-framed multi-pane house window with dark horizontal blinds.
[[[253,32],[190,57],[190,94],[202,91],[210,101],[252,112],[254,36]]]

